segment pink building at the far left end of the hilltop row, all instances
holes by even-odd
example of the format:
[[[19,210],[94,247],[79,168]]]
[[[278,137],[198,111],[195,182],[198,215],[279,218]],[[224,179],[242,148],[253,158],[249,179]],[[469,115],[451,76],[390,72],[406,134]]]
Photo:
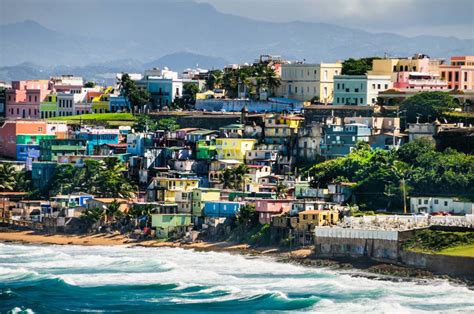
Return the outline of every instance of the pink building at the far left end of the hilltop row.
[[[39,119],[40,103],[50,92],[48,80],[13,81],[6,91],[6,118]]]

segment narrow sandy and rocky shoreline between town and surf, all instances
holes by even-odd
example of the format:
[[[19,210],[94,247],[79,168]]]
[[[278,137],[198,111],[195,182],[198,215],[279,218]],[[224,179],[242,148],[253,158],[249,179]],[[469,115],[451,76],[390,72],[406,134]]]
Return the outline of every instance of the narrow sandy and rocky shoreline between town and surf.
[[[135,240],[124,235],[91,234],[67,235],[45,234],[36,231],[16,231],[0,229],[0,243],[44,244],[44,245],[81,245],[81,246],[128,246],[128,247],[174,247],[198,252],[226,252],[245,256],[272,257],[280,263],[292,263],[305,267],[326,268],[353,277],[373,280],[416,281],[421,284],[428,280],[444,279],[454,284],[474,289],[474,282],[463,278],[436,275],[427,270],[383,263],[371,259],[320,259],[312,256],[310,247],[288,251],[278,247],[251,247],[248,244],[230,242],[166,242],[158,240]]]

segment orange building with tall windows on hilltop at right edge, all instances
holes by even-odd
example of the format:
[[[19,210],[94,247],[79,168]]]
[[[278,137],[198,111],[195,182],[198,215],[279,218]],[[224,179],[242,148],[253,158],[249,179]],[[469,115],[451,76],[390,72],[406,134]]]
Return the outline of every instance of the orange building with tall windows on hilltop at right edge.
[[[451,57],[450,64],[439,69],[449,89],[474,89],[474,56]]]

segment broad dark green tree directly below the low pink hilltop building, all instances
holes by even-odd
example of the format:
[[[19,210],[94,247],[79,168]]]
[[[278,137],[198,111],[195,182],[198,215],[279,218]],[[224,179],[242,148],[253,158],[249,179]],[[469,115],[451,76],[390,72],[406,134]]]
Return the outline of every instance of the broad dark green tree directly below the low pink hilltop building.
[[[444,112],[459,107],[454,98],[445,92],[421,92],[405,99],[400,109],[406,111],[408,123],[433,122],[443,116]]]

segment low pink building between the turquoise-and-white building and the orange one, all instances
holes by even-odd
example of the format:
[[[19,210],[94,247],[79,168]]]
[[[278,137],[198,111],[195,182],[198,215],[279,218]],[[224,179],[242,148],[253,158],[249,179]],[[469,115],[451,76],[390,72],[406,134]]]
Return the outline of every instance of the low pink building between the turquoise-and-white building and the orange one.
[[[428,72],[397,72],[397,81],[393,83],[398,89],[445,90],[448,83]]]

